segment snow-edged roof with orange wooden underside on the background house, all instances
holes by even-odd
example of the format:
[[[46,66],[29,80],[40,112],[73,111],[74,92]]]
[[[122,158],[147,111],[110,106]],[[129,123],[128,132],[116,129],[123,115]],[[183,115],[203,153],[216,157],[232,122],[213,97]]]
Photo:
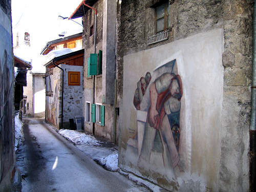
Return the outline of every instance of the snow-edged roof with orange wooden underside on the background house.
[[[65,43],[65,42],[72,41],[72,40],[77,40],[77,39],[80,39],[80,38],[82,38],[82,32],[81,32],[81,33],[74,34],[74,35],[70,35],[70,36],[68,36],[68,37],[59,38],[59,39],[55,39],[55,40],[49,41],[49,42],[47,42],[47,44],[46,44],[46,46],[44,47],[44,49],[42,49],[42,51],[41,51],[40,54],[46,55],[46,54],[48,54],[50,51],[52,51],[52,49],[53,49],[55,46],[60,45],[60,44],[63,44],[63,43]]]

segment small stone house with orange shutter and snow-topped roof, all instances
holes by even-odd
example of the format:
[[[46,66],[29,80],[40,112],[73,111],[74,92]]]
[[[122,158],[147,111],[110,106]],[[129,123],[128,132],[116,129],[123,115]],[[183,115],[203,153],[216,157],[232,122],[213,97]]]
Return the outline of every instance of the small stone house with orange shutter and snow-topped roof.
[[[82,111],[83,53],[78,50],[52,51],[46,64],[46,121],[57,129],[71,129],[70,121]],[[50,54],[50,53],[49,53]]]

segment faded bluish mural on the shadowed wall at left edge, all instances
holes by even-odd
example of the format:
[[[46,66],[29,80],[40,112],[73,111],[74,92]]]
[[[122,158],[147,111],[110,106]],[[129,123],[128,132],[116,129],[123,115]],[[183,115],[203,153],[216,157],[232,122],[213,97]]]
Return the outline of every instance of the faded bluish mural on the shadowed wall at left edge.
[[[12,41],[11,34],[0,25],[0,179],[4,164],[8,166],[12,148]],[[9,155],[8,155],[9,154]],[[2,161],[4,160],[4,162]]]

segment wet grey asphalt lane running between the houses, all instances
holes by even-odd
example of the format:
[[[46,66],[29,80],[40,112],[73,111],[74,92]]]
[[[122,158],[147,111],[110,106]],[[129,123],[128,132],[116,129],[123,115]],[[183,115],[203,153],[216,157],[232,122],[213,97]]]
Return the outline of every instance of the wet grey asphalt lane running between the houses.
[[[44,119],[25,118],[25,142],[16,154],[23,192],[148,191],[109,172],[59,136]]]

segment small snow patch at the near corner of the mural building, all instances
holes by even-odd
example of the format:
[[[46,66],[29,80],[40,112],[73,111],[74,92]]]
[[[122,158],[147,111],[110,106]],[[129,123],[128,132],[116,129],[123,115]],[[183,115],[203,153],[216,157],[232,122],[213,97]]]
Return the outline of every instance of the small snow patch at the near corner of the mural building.
[[[109,156],[94,159],[98,164],[102,165],[105,169],[117,172],[119,170],[118,164],[118,153],[110,154]]]

